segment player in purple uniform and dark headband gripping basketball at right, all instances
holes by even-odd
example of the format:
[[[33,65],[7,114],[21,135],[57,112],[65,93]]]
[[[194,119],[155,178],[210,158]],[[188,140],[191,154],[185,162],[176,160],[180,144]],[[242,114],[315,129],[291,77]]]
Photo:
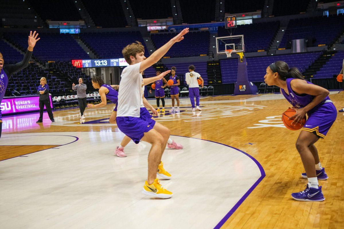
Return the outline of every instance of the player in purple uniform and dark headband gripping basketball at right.
[[[326,180],[328,176],[321,166],[314,143],[325,137],[337,117],[336,107],[328,96],[330,92],[304,80],[299,69],[289,68],[283,61],[272,63],[266,69],[264,80],[269,86],[280,87],[281,93],[293,106],[296,114],[289,118],[294,119],[292,125],[308,115],[296,141],[296,148],[306,171],[301,176],[308,179],[308,183],[304,191],[292,193],[291,196],[298,201],[323,201],[325,197],[318,179]]]

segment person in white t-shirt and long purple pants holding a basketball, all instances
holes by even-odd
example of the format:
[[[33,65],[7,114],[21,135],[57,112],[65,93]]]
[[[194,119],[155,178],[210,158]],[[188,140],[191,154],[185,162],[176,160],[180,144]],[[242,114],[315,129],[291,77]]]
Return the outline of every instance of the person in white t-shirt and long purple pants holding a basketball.
[[[195,66],[190,65],[189,66],[189,72],[185,73],[185,81],[187,85],[189,85],[189,98],[192,105],[192,111],[195,111],[195,100],[194,97],[196,97],[196,109],[198,111],[202,111],[200,108],[200,89],[198,88],[198,82],[197,78],[200,78],[202,80],[201,87],[204,86],[204,80],[202,79],[201,75],[195,72]]]

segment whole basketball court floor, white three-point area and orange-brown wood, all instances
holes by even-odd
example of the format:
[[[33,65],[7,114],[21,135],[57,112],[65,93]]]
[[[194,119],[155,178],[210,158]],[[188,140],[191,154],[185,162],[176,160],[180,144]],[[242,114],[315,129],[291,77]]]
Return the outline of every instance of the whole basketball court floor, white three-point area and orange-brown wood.
[[[337,108],[343,92],[330,94]],[[155,100],[149,100],[155,104]],[[123,133],[108,123],[113,104],[85,111],[5,116],[0,139],[1,228],[343,228],[343,115],[316,142],[329,179],[324,202],[294,201],[307,180],[295,148],[299,131],[284,127],[290,106],[281,94],[208,96],[202,111],[189,98],[181,112],[156,120],[182,150],[166,149],[171,199],[141,193],[147,174],[146,142],[114,156]],[[171,106],[171,100],[166,100]],[[292,218],[293,220],[290,220]]]

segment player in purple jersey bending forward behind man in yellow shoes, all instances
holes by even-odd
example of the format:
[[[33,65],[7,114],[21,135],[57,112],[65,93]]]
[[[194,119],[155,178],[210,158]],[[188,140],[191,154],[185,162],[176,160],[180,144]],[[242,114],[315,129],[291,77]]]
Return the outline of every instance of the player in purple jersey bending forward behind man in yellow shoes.
[[[118,92],[114,88],[118,88],[118,85],[105,84],[103,79],[100,76],[95,76],[92,78],[92,86],[95,89],[99,89],[101,102],[98,104],[87,104],[87,107],[97,108],[97,107],[106,106],[107,100],[110,100],[111,102],[116,104],[116,106],[115,106],[115,109],[112,111],[109,122],[111,124],[116,124]]]

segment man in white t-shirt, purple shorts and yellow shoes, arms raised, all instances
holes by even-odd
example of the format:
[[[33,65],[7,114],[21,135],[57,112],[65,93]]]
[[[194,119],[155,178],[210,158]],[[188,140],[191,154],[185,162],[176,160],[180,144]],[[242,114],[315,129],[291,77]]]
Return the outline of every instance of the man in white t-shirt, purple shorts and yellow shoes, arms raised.
[[[136,144],[140,140],[152,144],[148,154],[148,179],[143,186],[142,193],[159,198],[172,197],[172,192],[165,190],[157,179],[158,167],[170,136],[170,130],[160,123],[156,123],[154,119],[140,116],[141,87],[163,78],[170,71],[145,79],[142,78],[140,72],[158,62],[172,45],[182,41],[188,32],[189,28],[185,28],[148,58],[144,57],[144,47],[140,42],[127,45],[122,50],[129,66],[123,69],[119,83],[116,122],[118,128]]]

